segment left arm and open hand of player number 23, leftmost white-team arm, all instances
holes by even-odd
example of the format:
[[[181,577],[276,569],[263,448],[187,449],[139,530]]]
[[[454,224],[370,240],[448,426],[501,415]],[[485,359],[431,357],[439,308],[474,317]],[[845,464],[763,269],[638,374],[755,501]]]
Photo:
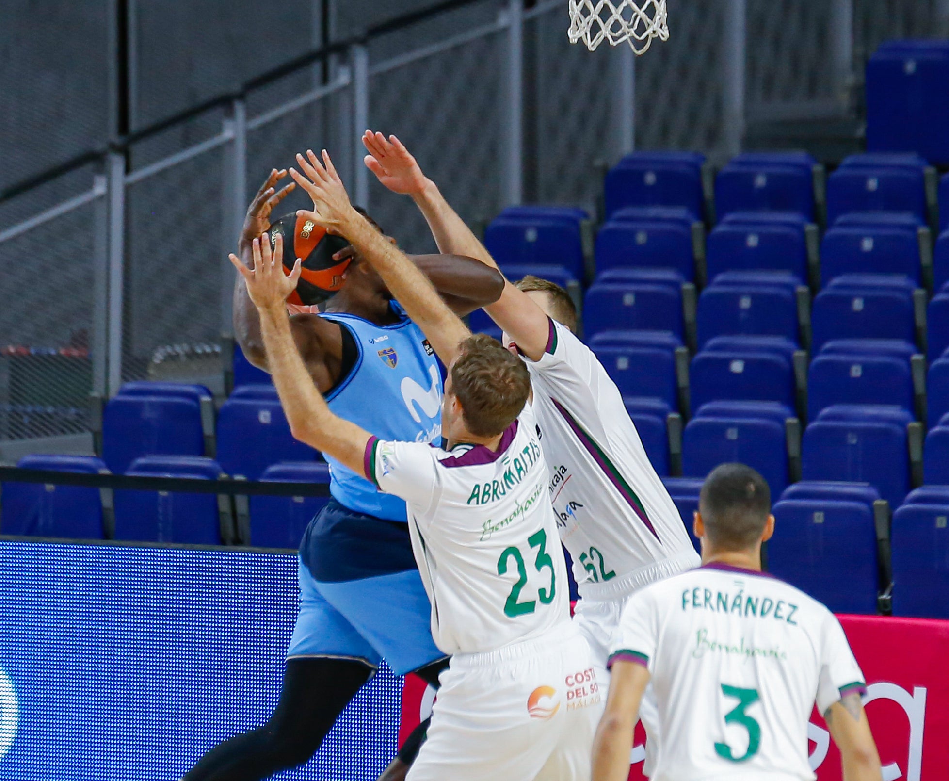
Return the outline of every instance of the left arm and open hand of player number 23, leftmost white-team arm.
[[[265,233],[251,241],[250,268],[233,254],[231,262],[260,313],[267,362],[287,415],[290,433],[301,442],[338,459],[356,474],[365,474],[363,458],[369,434],[355,423],[338,418],[329,411],[290,334],[286,301],[296,288],[301,264],[297,260],[292,273],[286,275],[283,252],[283,237],[276,237],[271,252],[270,240]]]

